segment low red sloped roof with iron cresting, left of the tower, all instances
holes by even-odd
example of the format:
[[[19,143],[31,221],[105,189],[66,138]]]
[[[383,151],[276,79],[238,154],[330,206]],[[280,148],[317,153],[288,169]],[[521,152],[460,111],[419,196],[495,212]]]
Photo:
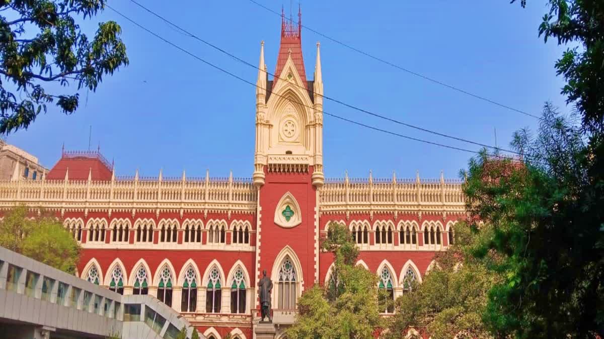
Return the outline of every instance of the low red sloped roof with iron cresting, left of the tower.
[[[113,166],[100,151],[63,152],[61,159],[48,172],[47,180],[64,180],[69,168],[69,180],[88,180],[92,171],[92,180],[111,180]]]

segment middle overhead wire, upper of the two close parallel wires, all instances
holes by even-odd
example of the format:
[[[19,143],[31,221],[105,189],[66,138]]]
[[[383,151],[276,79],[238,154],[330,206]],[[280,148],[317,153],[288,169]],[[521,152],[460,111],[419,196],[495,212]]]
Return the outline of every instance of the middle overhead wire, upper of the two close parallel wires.
[[[153,16],[158,17],[159,19],[161,19],[162,21],[164,21],[166,24],[168,24],[168,25],[170,25],[170,26],[172,26],[172,27],[180,30],[182,33],[188,35],[189,37],[192,37],[193,39],[196,39],[199,42],[202,42],[205,45],[210,46],[211,48],[214,48],[217,51],[220,51],[223,54],[228,55],[229,57],[237,60],[240,63],[243,63],[244,65],[247,65],[247,66],[249,66],[251,68],[254,68],[256,70],[259,70],[259,71],[265,71],[263,69],[258,68],[258,66],[255,66],[254,64],[252,64],[250,62],[247,62],[246,60],[243,60],[240,57],[237,57],[237,55],[234,55],[231,52],[228,52],[225,49],[220,48],[219,46],[216,46],[213,43],[208,42],[207,40],[204,40],[201,37],[196,36],[195,34],[191,33],[190,31],[185,30],[184,28],[182,28],[179,25],[175,24],[174,22],[166,19],[165,17],[161,16],[160,14],[156,13],[155,11],[152,11],[149,8],[145,7],[144,5],[141,5],[139,2],[137,2],[135,0],[130,0],[130,2],[132,2],[135,5],[138,5],[138,7],[143,8],[143,10],[146,10],[147,12],[149,12],[150,14],[152,14]],[[277,74],[272,74],[271,72],[268,72],[268,71],[265,71],[265,72],[267,74],[271,75],[275,80],[281,79],[280,77],[278,77]],[[301,89],[306,90],[306,87],[300,86],[298,84],[294,84],[294,86],[297,86],[297,87],[300,87]],[[447,135],[445,133],[440,133],[440,132],[437,132],[437,131],[429,130],[428,128],[419,127],[417,125],[408,124],[406,122],[402,122],[402,121],[399,121],[397,119],[389,118],[388,116],[380,115],[378,113],[374,113],[374,112],[370,112],[370,111],[365,110],[365,109],[361,109],[361,108],[356,107],[356,106],[354,106],[352,104],[344,103],[341,100],[338,100],[338,99],[335,99],[335,98],[332,98],[332,97],[328,97],[326,95],[323,95],[323,98],[326,99],[326,100],[330,100],[330,101],[333,101],[335,103],[341,104],[343,106],[349,107],[351,109],[358,110],[359,112],[366,113],[368,115],[375,116],[377,118],[384,119],[386,121],[394,122],[395,124],[399,124],[399,125],[403,125],[403,126],[406,126],[406,127],[414,128],[416,130],[424,131],[426,133],[431,133],[433,135],[442,136],[444,138],[454,139],[454,140],[461,141],[461,142],[467,142],[468,144],[474,144],[474,145],[477,145],[477,146],[480,146],[480,147],[492,148],[493,150],[502,150],[502,151],[506,151],[506,152],[509,152],[509,153],[513,153],[513,154],[518,154],[519,155],[519,153],[517,153],[515,151],[512,151],[512,150],[506,150],[504,148],[498,148],[496,146],[494,147],[494,146],[491,146],[491,145],[481,144],[480,142],[475,142],[475,141],[471,141],[471,140],[468,140],[468,139],[459,138],[457,136],[451,136],[451,135]]]

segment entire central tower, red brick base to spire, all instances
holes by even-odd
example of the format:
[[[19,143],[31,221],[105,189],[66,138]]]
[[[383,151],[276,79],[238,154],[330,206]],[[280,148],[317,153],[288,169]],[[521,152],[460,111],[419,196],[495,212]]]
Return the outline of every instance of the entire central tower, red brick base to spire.
[[[281,43],[272,80],[264,43],[256,90],[254,185],[258,188],[256,281],[275,284],[273,320],[294,321],[302,291],[318,283],[318,188],[323,175],[323,80],[319,44],[314,80],[306,80],[298,24],[281,15]],[[257,294],[256,294],[257,295]],[[257,300],[257,308],[260,307]]]

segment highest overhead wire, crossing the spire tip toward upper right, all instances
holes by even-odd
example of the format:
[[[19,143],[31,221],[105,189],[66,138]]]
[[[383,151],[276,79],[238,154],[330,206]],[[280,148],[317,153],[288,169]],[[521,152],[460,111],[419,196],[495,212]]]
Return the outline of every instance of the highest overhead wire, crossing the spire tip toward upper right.
[[[255,5],[258,5],[258,6],[262,7],[262,8],[264,8],[265,10],[267,10],[267,11],[269,11],[271,13],[274,13],[274,14],[277,14],[278,16],[281,16],[281,14],[278,13],[277,11],[272,10],[271,8],[268,8],[265,5],[260,4],[257,1],[254,1],[254,0],[249,0],[249,1],[252,2]],[[298,25],[300,25],[300,22],[297,22],[297,21],[294,21],[294,22],[296,22]],[[495,100],[490,100],[489,98],[485,98],[485,97],[482,97],[481,95],[474,94],[472,92],[468,92],[467,90],[461,89],[459,87],[455,87],[455,86],[452,86],[450,84],[443,83],[443,81],[436,80],[434,78],[427,77],[426,75],[420,74],[418,72],[411,71],[410,69],[407,69],[407,68],[404,68],[402,66],[396,65],[395,63],[389,62],[388,60],[384,60],[384,59],[382,59],[380,57],[376,57],[376,56],[374,56],[374,55],[372,55],[372,54],[370,54],[368,52],[362,51],[361,49],[358,49],[358,48],[356,48],[354,46],[351,46],[351,45],[349,45],[347,43],[341,42],[340,40],[337,40],[337,39],[335,39],[333,37],[327,36],[326,34],[323,34],[323,33],[319,32],[319,31],[313,30],[312,28],[310,28],[310,27],[308,27],[306,25],[301,25],[301,27],[306,28],[307,30],[311,31],[312,33],[315,33],[315,34],[317,34],[319,36],[322,36],[322,37],[326,38],[327,40],[331,40],[331,41],[333,41],[335,43],[338,43],[338,45],[342,45],[345,48],[351,49],[352,51],[355,51],[355,52],[358,52],[358,53],[360,53],[362,55],[370,57],[371,59],[377,60],[378,62],[385,63],[388,66],[392,66],[392,67],[394,67],[396,69],[399,69],[400,71],[407,72],[408,74],[415,75],[416,77],[422,78],[424,80],[431,81],[432,83],[439,84],[440,86],[444,86],[444,87],[447,87],[449,89],[455,90],[457,92],[463,93],[465,95],[469,95],[470,97],[477,98],[478,100],[483,100],[483,101],[486,101],[487,103],[491,103],[491,104],[494,104],[496,106],[503,107],[504,109],[509,109],[509,110],[512,110],[512,111],[517,112],[517,113],[521,113],[521,114],[524,114],[524,115],[527,115],[527,116],[532,116],[533,118],[541,119],[539,116],[533,115],[533,114],[528,113],[528,112],[524,112],[523,110],[515,109],[514,107],[507,106],[506,104],[498,103]]]

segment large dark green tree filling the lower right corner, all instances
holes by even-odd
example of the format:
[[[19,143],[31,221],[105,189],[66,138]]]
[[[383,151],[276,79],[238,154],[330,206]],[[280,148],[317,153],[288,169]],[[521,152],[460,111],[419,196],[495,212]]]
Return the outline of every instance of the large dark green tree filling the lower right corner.
[[[604,335],[602,181],[572,121],[546,104],[538,133],[514,136],[524,162],[486,153],[469,162],[467,211],[475,227],[493,227],[473,254],[495,253],[487,267],[504,278],[490,289],[483,318],[498,337]]]

